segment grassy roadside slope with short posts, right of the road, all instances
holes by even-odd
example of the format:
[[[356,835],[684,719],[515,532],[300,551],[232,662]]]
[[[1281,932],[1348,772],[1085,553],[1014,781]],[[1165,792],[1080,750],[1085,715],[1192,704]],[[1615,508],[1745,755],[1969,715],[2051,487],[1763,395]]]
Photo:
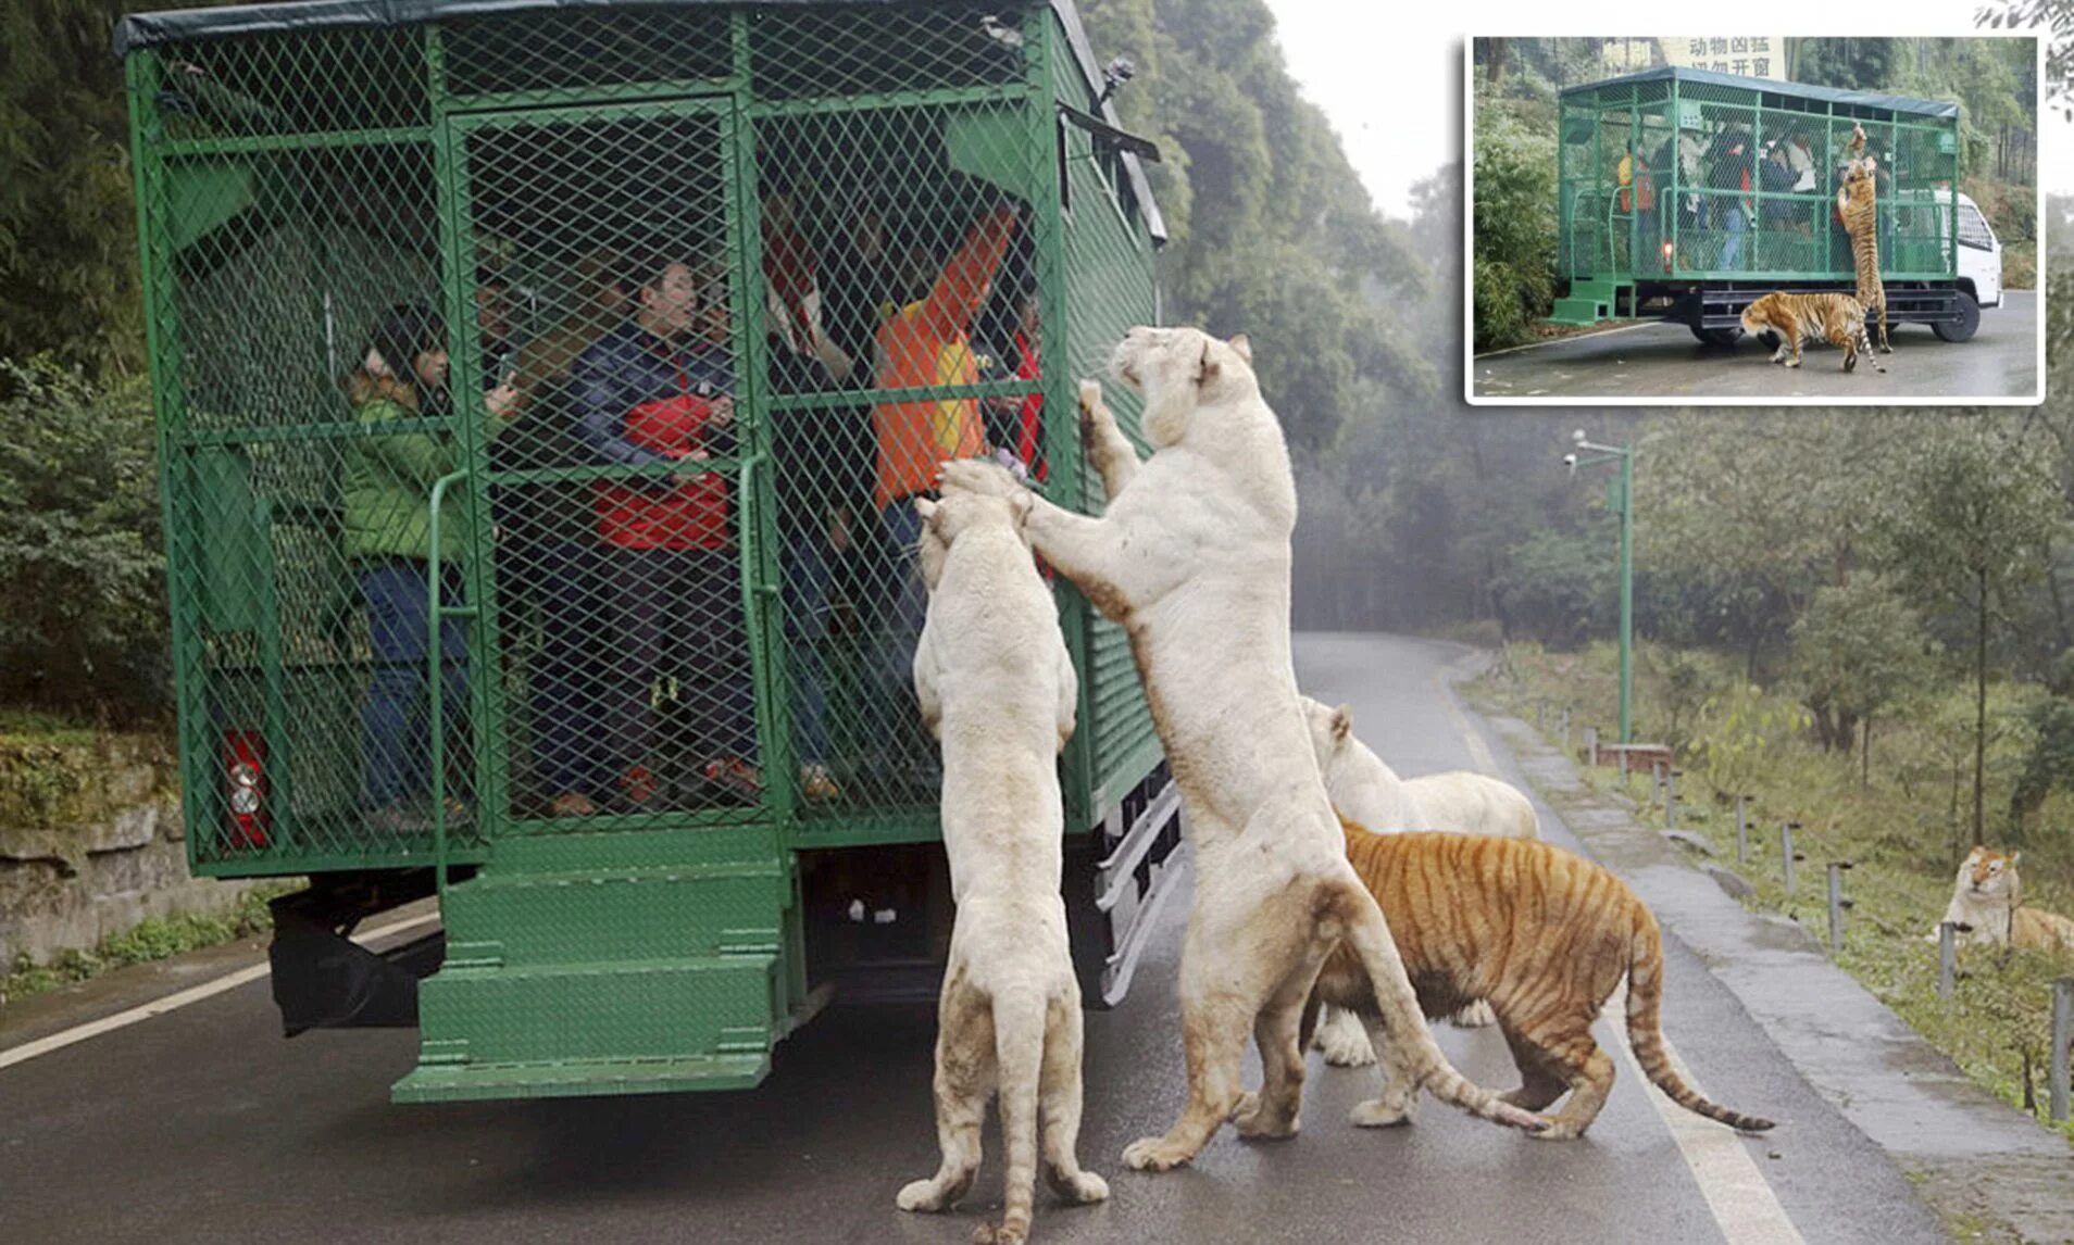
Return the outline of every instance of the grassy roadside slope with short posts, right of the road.
[[[1970,849],[1972,698],[1964,690],[1912,706],[1908,717],[1875,721],[1871,764],[1860,752],[1823,752],[1806,731],[1804,711],[1782,690],[1757,690],[1736,677],[1740,663],[1713,655],[1647,650],[1636,661],[1636,740],[1678,746],[1680,829],[1713,843],[1715,860],[1736,868],[1757,893],[1746,907],[1786,914],[1827,938],[1831,860],[1848,860],[1844,947],[1833,953],[1867,990],[1952,1056],[1974,1081],[2012,1106],[2026,1096],[2043,1123],[2051,1034],[2051,982],[2074,974],[2074,959],[2030,951],[1962,949],[1952,998],[1937,996],[1937,945],[1927,943],[1952,897],[1958,860]],[[1582,727],[1611,740],[1618,723],[1616,659],[1609,644],[1587,653],[1512,646],[1483,679],[1466,688],[1483,708],[1529,723],[1537,708],[1555,735],[1562,706],[1572,711],[1572,748]],[[1991,688],[1989,729],[2014,719],[2028,694]],[[1989,746],[1989,845],[2008,835],[2014,731]],[[1620,791],[1614,769],[1587,771],[1599,791]],[[1630,775],[1626,795],[1645,824],[1663,824],[1647,773]],[[1734,791],[1746,800],[1750,860],[1736,864]],[[1798,887],[1786,893],[1779,822],[1796,820]],[[2022,841],[2024,901],[2074,914],[2074,802],[2053,798]],[[2028,1079],[2028,1092],[2026,1092]],[[2074,1137],[2074,1123],[2062,1125]]]

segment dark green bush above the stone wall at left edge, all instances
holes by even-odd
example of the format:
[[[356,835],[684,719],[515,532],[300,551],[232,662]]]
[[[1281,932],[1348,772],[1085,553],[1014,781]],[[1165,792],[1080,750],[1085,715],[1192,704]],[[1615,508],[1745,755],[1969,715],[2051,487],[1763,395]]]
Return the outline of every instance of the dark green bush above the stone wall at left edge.
[[[0,698],[164,715],[164,578],[145,383],[0,360]]]

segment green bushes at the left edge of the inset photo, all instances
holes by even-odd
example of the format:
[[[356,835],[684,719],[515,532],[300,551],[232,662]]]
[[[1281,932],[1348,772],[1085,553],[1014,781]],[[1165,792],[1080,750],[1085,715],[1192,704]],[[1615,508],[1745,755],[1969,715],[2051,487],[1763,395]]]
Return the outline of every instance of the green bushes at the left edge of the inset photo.
[[[1479,350],[1533,336],[1555,302],[1555,131],[1477,97],[1475,325]]]

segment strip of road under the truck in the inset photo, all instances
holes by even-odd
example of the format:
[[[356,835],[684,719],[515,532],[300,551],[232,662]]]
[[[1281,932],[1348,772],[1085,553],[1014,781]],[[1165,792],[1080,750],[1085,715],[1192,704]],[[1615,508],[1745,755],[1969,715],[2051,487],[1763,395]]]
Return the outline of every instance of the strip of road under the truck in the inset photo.
[[[1970,398],[2030,398],[2039,389],[2039,294],[2008,290],[2001,307],[1981,311],[1970,342],[1941,342],[1927,325],[1896,325],[1894,354],[1879,354],[1885,375],[1869,369],[1844,373],[1842,352],[1804,346],[1800,367],[1771,363],[1755,338],[1732,350],[1701,346],[1684,325],[1643,323],[1564,338],[1522,350],[1470,360],[1475,398],[1589,400],[1663,398],[1707,402],[1715,398],[1860,398],[1879,402],[1964,402]]]

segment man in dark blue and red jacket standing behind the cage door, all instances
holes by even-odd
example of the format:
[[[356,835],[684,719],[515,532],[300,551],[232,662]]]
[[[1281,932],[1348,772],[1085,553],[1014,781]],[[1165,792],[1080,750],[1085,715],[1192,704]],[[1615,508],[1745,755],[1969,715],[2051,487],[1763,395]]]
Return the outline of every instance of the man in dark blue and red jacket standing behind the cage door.
[[[633,315],[570,371],[585,447],[626,466],[678,464],[672,476],[599,481],[601,599],[616,624],[618,721],[610,746],[620,793],[645,808],[686,775],[657,773],[655,717],[682,702],[699,773],[753,800],[755,696],[742,621],[740,561],[726,474],[705,462],[734,452],[728,284],[718,267],[666,253],[626,267]]]

